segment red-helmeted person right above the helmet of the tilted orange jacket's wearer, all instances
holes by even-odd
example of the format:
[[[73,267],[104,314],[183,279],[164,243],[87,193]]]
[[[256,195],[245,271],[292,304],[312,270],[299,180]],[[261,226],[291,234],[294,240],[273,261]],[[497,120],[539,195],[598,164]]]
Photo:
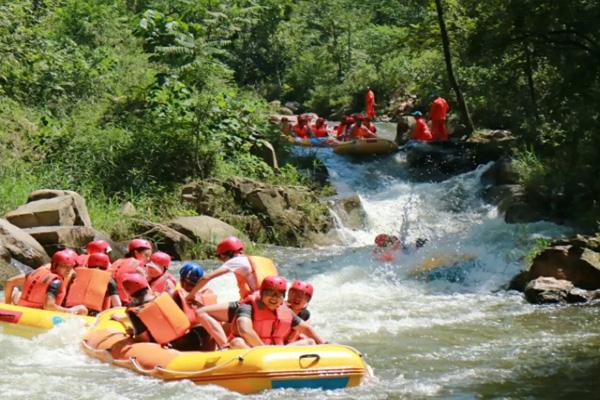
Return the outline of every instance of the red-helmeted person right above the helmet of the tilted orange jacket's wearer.
[[[152,255],[152,243],[146,239],[133,239],[127,245],[127,254],[124,258],[120,258],[115,261],[111,266],[111,272],[113,278],[117,282],[117,289],[119,290],[119,297],[123,305],[129,304],[131,297],[127,294],[123,288],[123,279],[125,275],[131,273],[138,273],[140,275],[146,275],[146,269],[144,265],[150,261]]]

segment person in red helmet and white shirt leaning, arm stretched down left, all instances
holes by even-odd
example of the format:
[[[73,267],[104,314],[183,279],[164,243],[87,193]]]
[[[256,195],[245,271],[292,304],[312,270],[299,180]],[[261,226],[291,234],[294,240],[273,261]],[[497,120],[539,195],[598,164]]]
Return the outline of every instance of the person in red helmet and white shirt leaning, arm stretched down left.
[[[244,243],[235,237],[228,236],[217,244],[215,249],[217,258],[223,262],[219,268],[204,275],[188,295],[193,300],[196,292],[204,287],[212,279],[233,272],[240,290],[240,299],[258,290],[261,277],[278,275],[277,269],[264,270],[263,266],[257,265],[251,256],[244,255]]]

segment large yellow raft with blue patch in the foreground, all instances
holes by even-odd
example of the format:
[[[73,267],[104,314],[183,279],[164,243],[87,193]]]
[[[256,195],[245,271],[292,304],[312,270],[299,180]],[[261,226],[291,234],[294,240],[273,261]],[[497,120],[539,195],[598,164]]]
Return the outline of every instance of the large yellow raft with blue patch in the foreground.
[[[134,343],[110,325],[107,310],[81,342],[90,356],[165,381],[188,379],[239,393],[280,388],[342,389],[371,375],[362,355],[341,345],[261,346],[244,350],[177,351],[157,343]],[[107,325],[109,324],[109,325]]]

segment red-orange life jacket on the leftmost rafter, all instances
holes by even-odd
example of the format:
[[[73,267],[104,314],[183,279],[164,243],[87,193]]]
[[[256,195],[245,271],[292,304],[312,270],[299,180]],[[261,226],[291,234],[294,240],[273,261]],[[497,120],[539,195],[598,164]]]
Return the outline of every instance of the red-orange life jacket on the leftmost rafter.
[[[48,268],[38,268],[25,278],[23,293],[17,305],[31,308],[44,309],[46,298],[48,297],[48,287],[52,281],[59,279],[61,282],[60,290],[56,296],[56,304],[62,305],[67,294],[67,284],[64,279]]]

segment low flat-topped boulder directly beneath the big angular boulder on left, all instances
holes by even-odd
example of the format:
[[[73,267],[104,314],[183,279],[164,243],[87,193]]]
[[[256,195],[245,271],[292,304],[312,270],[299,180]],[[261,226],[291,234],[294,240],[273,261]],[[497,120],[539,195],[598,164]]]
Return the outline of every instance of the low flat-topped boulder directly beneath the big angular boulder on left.
[[[23,231],[33,236],[48,254],[65,247],[80,249],[97,237],[103,237],[88,226],[38,226]]]

